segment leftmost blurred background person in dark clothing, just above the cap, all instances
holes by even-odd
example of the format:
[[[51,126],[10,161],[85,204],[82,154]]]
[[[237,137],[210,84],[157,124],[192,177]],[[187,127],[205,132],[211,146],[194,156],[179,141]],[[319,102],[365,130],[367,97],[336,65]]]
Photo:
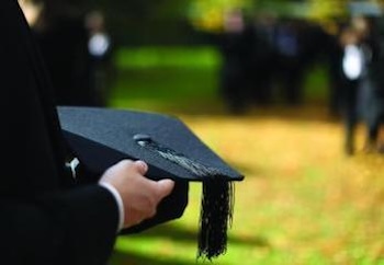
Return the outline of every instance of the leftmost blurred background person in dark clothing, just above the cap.
[[[52,77],[58,105],[101,105],[89,56],[84,13],[68,0],[22,0],[22,8],[27,2],[38,7],[38,14],[30,24]]]

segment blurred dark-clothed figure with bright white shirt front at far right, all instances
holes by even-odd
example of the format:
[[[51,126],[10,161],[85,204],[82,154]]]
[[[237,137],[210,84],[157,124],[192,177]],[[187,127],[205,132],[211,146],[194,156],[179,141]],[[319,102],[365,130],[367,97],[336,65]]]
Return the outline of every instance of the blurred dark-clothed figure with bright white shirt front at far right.
[[[353,16],[340,36],[347,154],[354,152],[354,130],[359,120],[366,127],[364,150],[381,149],[379,135],[384,114],[382,42],[375,20],[363,15]]]

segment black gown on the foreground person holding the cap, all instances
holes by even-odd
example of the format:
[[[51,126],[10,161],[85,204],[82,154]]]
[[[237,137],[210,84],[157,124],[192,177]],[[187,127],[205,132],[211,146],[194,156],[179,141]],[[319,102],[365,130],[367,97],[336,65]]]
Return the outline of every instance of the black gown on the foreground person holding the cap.
[[[50,84],[16,0],[0,1],[0,264],[105,264],[117,209],[72,188]]]

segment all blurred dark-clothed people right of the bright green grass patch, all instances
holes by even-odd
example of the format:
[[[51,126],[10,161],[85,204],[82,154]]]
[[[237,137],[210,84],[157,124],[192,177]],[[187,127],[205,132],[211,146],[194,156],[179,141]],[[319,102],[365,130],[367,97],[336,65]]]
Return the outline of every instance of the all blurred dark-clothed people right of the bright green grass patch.
[[[219,91],[229,111],[250,105],[304,103],[304,78],[316,64],[329,77],[329,111],[342,117],[345,151],[355,150],[359,122],[366,125],[366,151],[377,151],[384,113],[384,38],[381,16],[359,14],[335,20],[336,31],[295,18],[269,13],[246,20],[241,11],[225,15],[215,35],[222,53]],[[382,66],[383,65],[383,66]]]

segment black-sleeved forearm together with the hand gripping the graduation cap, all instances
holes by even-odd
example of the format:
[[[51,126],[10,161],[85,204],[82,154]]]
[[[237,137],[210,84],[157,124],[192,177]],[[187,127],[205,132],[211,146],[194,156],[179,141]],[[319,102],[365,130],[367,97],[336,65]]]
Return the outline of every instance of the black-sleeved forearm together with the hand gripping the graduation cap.
[[[124,228],[156,214],[172,181],[154,182],[143,162],[122,161],[101,182],[113,185],[124,205]],[[0,199],[1,256],[4,264],[104,265],[112,252],[118,208],[110,191],[84,185],[35,199]]]

